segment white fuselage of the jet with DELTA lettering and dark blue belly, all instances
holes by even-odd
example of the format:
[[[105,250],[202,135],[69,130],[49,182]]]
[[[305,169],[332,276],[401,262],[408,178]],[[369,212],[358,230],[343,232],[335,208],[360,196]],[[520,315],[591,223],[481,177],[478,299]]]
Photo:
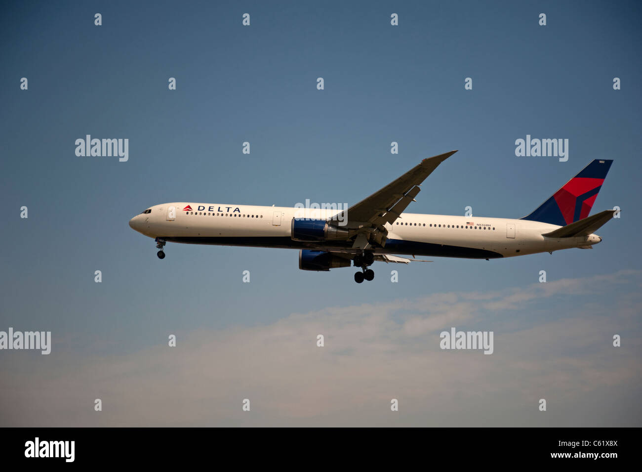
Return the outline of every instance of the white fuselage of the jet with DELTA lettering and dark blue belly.
[[[130,226],[164,241],[346,252],[352,246],[351,241],[292,240],[291,220],[302,216],[299,208],[178,202],[155,205],[146,211],[134,216]],[[320,209],[306,216],[326,220],[337,213]],[[376,254],[486,259],[590,247],[602,240],[595,234],[542,236],[558,228],[529,220],[402,213],[394,223],[386,224],[385,246],[372,250]]]

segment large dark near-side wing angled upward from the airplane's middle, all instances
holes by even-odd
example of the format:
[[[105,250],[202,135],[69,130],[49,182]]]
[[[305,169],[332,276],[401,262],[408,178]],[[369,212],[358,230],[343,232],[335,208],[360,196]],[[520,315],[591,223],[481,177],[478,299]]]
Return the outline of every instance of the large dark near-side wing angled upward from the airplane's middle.
[[[410,202],[415,201],[421,182],[454,153],[456,151],[424,159],[399,179],[393,180],[370,197],[364,198],[358,204],[339,213],[341,218],[336,215],[332,220],[347,221],[349,227],[377,227],[383,226],[385,223],[392,224]]]

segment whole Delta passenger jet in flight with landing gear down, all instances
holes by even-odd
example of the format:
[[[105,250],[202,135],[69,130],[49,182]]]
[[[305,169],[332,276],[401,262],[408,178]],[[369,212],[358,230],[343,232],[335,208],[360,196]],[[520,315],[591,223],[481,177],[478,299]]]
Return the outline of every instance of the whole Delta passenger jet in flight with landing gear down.
[[[149,207],[129,222],[154,238],[159,259],[167,242],[299,249],[299,268],[358,267],[354,281],[372,281],[375,261],[425,261],[415,256],[499,259],[569,248],[592,249],[594,231],[617,213],[589,216],[612,160],[595,159],[523,218],[404,213],[422,182],[456,151],[429,157],[348,209],[173,202]],[[412,256],[404,258],[403,256]]]

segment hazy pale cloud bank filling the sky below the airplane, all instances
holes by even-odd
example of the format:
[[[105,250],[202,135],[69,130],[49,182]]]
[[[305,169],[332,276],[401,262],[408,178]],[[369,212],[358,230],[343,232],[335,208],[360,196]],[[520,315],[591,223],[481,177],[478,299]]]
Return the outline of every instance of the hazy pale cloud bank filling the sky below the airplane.
[[[266,326],[178,333],[177,347],[119,356],[56,345],[49,356],[12,352],[0,372],[0,422],[640,426],[640,279],[623,271],[329,307]],[[451,326],[494,331],[494,354],[442,351],[439,332]],[[616,333],[622,347],[612,347]],[[537,410],[540,398],[551,411]]]

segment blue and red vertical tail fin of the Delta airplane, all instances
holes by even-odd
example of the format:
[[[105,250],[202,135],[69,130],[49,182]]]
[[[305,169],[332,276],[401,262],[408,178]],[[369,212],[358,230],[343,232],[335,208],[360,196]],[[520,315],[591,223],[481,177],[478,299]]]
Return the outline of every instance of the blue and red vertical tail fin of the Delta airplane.
[[[612,160],[594,159],[537,209],[520,218],[566,226],[589,216]]]

